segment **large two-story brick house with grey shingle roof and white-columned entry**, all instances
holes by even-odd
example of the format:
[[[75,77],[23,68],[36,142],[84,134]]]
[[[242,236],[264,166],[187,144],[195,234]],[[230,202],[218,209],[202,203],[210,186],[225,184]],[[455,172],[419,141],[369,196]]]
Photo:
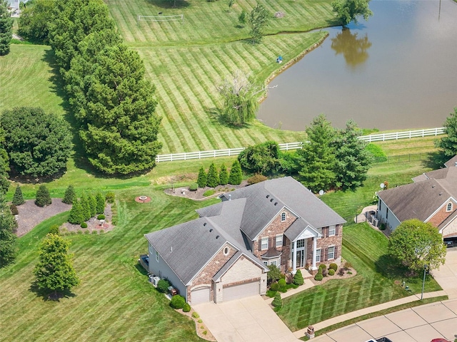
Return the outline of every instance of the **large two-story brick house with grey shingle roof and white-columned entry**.
[[[338,262],[345,222],[291,177],[221,195],[200,218],[146,234],[149,273],[168,278],[186,301],[266,293],[268,265],[316,270]]]

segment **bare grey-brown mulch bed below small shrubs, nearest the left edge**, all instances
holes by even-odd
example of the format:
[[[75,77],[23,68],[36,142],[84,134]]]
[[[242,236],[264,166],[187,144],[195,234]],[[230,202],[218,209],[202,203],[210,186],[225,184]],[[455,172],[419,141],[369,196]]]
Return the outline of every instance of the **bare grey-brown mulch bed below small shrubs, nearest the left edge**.
[[[62,203],[60,198],[53,198],[52,204],[46,207],[39,207],[35,204],[34,199],[29,199],[24,204],[18,205],[17,209],[19,215],[17,216],[18,228],[16,229],[16,235],[21,237],[45,219],[56,216],[61,212],[69,211],[71,204]]]

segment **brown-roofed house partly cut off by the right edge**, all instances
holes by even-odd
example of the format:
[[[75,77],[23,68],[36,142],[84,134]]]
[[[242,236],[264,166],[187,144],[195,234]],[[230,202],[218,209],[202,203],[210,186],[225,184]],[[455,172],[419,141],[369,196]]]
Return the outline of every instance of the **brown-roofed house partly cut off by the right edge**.
[[[430,222],[443,237],[457,235],[457,156],[413,183],[378,192],[377,218],[392,231],[406,219]]]

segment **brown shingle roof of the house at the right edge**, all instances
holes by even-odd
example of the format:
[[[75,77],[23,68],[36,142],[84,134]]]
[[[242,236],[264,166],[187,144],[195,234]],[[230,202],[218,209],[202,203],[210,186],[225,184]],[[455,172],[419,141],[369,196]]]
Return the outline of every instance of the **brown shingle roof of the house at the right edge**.
[[[425,172],[413,178],[414,183],[377,192],[400,222],[420,219],[426,222],[437,209],[450,199],[457,199],[457,156],[448,160],[442,169]],[[455,215],[451,215],[454,217]],[[449,217],[440,227],[448,224]],[[444,227],[443,226],[443,227]]]

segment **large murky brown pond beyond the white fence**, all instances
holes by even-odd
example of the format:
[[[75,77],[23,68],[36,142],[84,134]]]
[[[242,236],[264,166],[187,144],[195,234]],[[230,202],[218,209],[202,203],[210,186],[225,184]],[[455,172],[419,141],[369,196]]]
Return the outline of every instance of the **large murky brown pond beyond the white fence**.
[[[271,81],[258,118],[304,130],[323,113],[334,127],[441,127],[457,106],[457,3],[372,0],[368,21],[328,38]],[[283,56],[284,57],[284,56]]]

